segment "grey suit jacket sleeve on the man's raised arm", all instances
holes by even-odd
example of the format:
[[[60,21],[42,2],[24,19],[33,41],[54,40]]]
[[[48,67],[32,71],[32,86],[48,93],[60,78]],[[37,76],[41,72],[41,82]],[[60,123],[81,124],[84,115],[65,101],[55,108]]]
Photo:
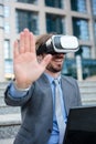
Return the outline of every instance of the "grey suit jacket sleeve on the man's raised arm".
[[[32,93],[34,91],[34,84],[32,84],[32,86],[30,88],[30,90],[23,96],[12,96],[11,95],[10,89],[11,89],[12,84],[13,83],[11,82],[7,86],[7,89],[6,89],[6,92],[4,92],[4,102],[6,102],[6,104],[11,105],[11,106],[22,106],[23,104],[25,104],[31,99]]]

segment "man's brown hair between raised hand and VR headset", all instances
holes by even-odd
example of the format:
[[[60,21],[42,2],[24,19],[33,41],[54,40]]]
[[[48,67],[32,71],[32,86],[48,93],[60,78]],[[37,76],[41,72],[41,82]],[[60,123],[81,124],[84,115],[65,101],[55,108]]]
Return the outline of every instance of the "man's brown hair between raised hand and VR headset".
[[[53,33],[50,34],[42,34],[40,37],[36,38],[36,42],[35,42],[35,49],[36,49],[36,54],[43,54],[44,53],[44,45],[45,42],[53,35]]]

